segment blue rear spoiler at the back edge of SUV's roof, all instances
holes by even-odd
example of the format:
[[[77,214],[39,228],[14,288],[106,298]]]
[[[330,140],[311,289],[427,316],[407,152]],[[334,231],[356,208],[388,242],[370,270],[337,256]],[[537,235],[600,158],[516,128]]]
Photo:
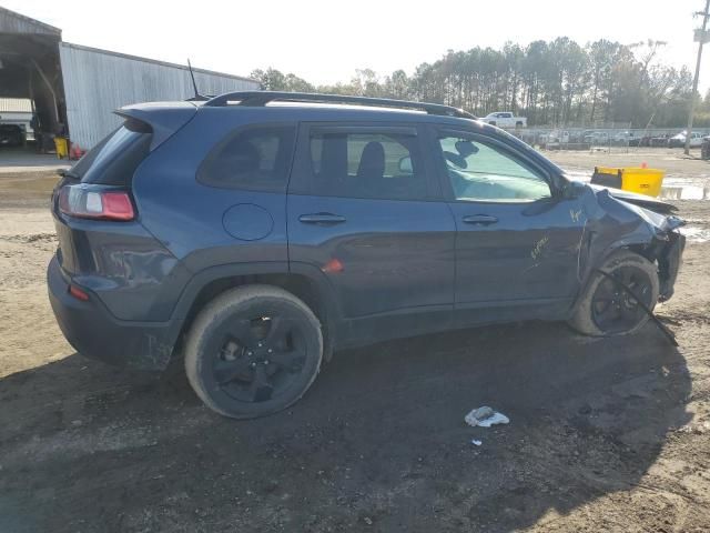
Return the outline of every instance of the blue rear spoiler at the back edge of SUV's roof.
[[[194,118],[197,107],[191,102],[150,102],[125,105],[114,111],[124,119],[148,124],[152,132],[151,151],[155,150]]]

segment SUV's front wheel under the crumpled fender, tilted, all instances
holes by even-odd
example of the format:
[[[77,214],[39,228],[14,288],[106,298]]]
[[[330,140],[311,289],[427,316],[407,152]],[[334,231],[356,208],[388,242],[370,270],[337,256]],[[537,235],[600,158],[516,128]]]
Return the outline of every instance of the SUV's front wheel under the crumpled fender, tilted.
[[[629,250],[612,253],[601,270],[625,282],[652,311],[658,302],[658,269]],[[635,333],[649,315],[626,291],[599,272],[592,272],[569,325],[586,335],[608,336]]]

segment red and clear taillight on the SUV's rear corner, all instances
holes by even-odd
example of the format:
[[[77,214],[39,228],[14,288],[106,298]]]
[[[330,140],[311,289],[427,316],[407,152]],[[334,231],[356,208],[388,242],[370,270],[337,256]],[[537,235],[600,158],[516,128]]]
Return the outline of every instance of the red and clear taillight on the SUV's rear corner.
[[[83,184],[64,185],[60,189],[59,210],[81,219],[129,221],[135,218],[128,192],[97,190]]]

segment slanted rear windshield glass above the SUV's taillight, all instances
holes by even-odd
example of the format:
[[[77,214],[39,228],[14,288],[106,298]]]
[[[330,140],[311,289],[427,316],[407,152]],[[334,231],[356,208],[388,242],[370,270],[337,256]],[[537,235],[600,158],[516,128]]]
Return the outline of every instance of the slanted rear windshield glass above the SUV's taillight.
[[[138,165],[150,153],[152,130],[129,119],[109,133],[71,169],[83,183],[129,187]]]

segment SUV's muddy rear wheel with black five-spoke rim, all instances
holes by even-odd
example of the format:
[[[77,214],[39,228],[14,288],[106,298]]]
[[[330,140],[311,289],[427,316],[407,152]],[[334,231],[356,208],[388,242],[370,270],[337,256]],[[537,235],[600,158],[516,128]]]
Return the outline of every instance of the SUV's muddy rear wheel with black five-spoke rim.
[[[271,285],[230,290],[196,316],[185,343],[185,372],[213,411],[253,419],[282,411],[321,369],[323,334],[311,309]]]

